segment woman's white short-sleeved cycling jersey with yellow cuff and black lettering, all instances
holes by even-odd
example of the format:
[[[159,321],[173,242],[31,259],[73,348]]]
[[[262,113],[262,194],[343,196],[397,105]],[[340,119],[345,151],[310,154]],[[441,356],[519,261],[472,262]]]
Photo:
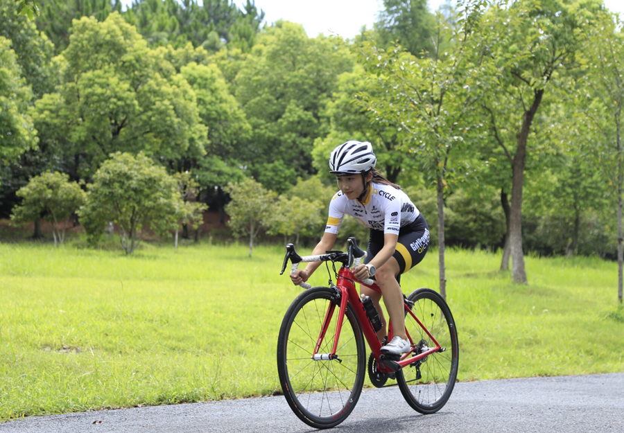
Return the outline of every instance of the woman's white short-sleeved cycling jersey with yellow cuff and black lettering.
[[[370,184],[363,202],[349,200],[342,191],[333,195],[325,232],[338,234],[345,213],[364,227],[395,235],[399,234],[401,227],[414,222],[420,215],[406,193],[394,186],[375,183]]]

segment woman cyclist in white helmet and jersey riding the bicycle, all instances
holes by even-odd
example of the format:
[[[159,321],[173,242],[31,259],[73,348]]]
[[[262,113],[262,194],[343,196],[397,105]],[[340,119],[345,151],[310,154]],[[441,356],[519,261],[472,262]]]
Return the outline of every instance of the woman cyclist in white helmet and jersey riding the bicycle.
[[[374,278],[381,288],[394,333],[392,341],[381,351],[400,355],[410,351],[405,333],[400,275],[424,258],[429,245],[429,230],[423,215],[406,193],[379,174],[375,164],[372,145],[367,141],[347,141],[331,152],[329,173],[336,175],[340,191],[331,199],[325,232],[312,254],[324,254],[333,248],[345,213],[370,228],[367,256],[364,263],[354,269],[354,274],[360,281]],[[308,263],[305,269],[297,269],[291,274],[291,280],[295,285],[307,281],[320,265],[320,262]],[[381,294],[365,286],[361,287],[361,294],[369,296],[379,312],[383,328],[377,337],[383,341],[387,328],[379,304]]]

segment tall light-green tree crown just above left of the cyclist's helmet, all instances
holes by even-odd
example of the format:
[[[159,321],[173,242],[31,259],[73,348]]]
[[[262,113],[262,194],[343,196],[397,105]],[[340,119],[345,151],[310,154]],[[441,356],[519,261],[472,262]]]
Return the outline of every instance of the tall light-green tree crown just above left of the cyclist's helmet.
[[[236,98],[252,127],[241,157],[254,177],[278,174],[270,166],[278,160],[296,175],[313,171],[313,142],[328,132],[320,113],[324,100],[352,65],[335,37],[311,39],[302,26],[287,21],[263,29],[236,76]]]

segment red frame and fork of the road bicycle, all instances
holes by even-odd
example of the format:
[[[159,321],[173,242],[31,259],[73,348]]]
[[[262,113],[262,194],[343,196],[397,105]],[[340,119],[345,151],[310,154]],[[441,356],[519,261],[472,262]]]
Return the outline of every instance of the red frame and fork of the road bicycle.
[[[360,283],[361,285],[365,285],[367,288],[371,288],[372,290],[378,293],[381,293],[381,289],[379,288],[379,285],[376,285],[376,284],[367,285],[365,283],[362,283],[361,281],[358,281],[355,279],[354,274],[351,269],[345,266],[341,267],[340,270],[338,271],[338,281],[336,281],[336,285],[333,286],[333,288],[340,291],[340,310],[338,312],[340,316],[339,316],[339,320],[336,326],[336,335],[334,336],[334,340],[333,340],[333,348],[331,350],[331,353],[329,354],[318,353],[318,350],[322,346],[322,342],[327,333],[327,328],[329,327],[331,318],[333,317],[334,310],[336,310],[336,304],[330,303],[329,308],[327,308],[327,312],[325,313],[323,325],[322,325],[320,334],[316,342],[314,353],[312,355],[313,360],[333,360],[337,358],[336,351],[338,351],[338,339],[340,338],[340,330],[342,330],[343,321],[345,319],[345,314],[347,312],[347,303],[351,303],[352,307],[354,308],[354,311],[356,312],[356,316],[358,317],[358,320],[360,321],[360,324],[362,326],[363,335],[368,343],[368,346],[370,347],[371,352],[373,353],[375,359],[379,363],[379,371],[381,371],[382,373],[392,373],[393,371],[398,371],[399,369],[402,369],[405,366],[408,366],[410,364],[413,364],[414,362],[417,362],[418,360],[421,360],[427,355],[431,355],[431,353],[440,351],[440,348],[441,348],[440,344],[437,342],[435,337],[433,337],[433,335],[429,333],[428,329],[424,327],[424,325],[416,317],[414,312],[410,310],[410,308],[408,308],[408,306],[404,304],[404,308],[407,314],[413,317],[413,319],[422,328],[422,330],[424,330],[424,332],[428,335],[428,337],[431,338],[431,341],[435,343],[435,347],[427,348],[426,351],[413,355],[415,351],[417,350],[418,342],[414,342],[412,337],[408,333],[407,337],[411,345],[411,349],[408,353],[404,353],[403,355],[401,355],[398,361],[389,360],[388,358],[382,357],[383,354],[381,353],[381,342],[379,342],[379,339],[377,338],[374,328],[372,327],[372,325],[370,324],[370,321],[368,320],[368,316],[366,315],[364,306],[362,302],[360,301],[360,297],[358,296],[358,291],[356,290],[355,282]],[[390,323],[388,326],[388,341],[390,341],[390,339],[392,339],[392,323]]]

